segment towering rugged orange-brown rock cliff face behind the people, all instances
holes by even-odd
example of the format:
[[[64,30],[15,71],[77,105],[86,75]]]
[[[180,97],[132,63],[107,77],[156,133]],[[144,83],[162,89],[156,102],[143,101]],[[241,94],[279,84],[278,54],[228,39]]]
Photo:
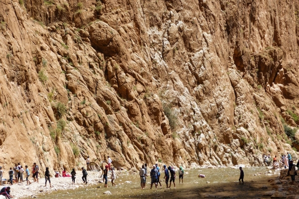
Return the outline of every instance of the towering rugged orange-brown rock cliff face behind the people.
[[[298,12],[296,0],[1,0],[0,163],[296,155]]]

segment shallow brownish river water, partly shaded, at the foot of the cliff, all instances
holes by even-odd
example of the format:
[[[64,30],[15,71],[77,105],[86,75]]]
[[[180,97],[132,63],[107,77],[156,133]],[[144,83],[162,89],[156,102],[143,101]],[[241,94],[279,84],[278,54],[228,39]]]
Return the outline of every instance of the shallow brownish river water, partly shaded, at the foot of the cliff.
[[[269,185],[268,179],[277,175],[269,176],[269,169],[266,167],[244,168],[244,184],[239,184],[239,169],[221,168],[221,169],[191,169],[185,170],[188,174],[184,175],[184,183],[179,184],[178,176],[175,179],[175,187],[165,189],[165,182],[162,181],[162,187],[158,185],[157,189],[149,190],[147,185],[145,190],[140,189],[139,175],[124,175],[115,180],[117,187],[112,187],[111,182],[108,188],[104,184],[78,188],[75,190],[56,191],[45,195],[39,195],[39,199],[198,199],[203,198],[205,194],[212,194],[221,198],[236,199],[263,199],[263,191],[260,189],[263,185]],[[259,174],[260,173],[260,174]],[[267,175],[265,174],[267,173]],[[204,174],[205,178],[198,178],[198,174]],[[258,174],[254,176],[254,174]],[[273,173],[272,173],[273,174]],[[164,174],[161,174],[160,180]],[[80,179],[81,180],[81,179]],[[78,182],[80,181],[78,179]],[[132,183],[125,183],[131,181]],[[210,183],[207,183],[210,182]],[[269,190],[269,189],[268,189]],[[103,195],[105,191],[110,191],[112,195]],[[269,198],[269,197],[268,197]],[[28,198],[29,199],[29,198]]]

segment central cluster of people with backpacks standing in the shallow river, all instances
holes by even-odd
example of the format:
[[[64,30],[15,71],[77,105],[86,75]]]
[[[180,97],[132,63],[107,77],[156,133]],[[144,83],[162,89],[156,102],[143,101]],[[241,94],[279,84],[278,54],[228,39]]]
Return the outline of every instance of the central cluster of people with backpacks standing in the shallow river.
[[[166,189],[171,187],[171,182],[173,182],[173,186],[175,189],[175,169],[171,166],[168,166],[168,168],[166,168],[166,165],[163,165],[163,170],[164,170],[164,179],[165,179],[165,183],[166,183]],[[169,181],[169,173],[170,173],[170,184],[168,187],[168,181]],[[148,177],[148,165],[145,163],[144,165],[142,165],[142,168],[139,171],[139,175],[140,175],[140,186],[141,189],[145,189],[146,187],[146,182],[147,182],[147,177]],[[157,189],[157,185],[159,184],[160,187],[162,187],[161,183],[160,183],[160,168],[158,167],[158,164],[152,165],[152,169],[150,170],[149,173],[149,177],[150,177],[150,189],[152,189],[152,186],[155,186],[155,189]],[[178,176],[179,176],[179,183],[180,180],[182,180],[183,183],[183,176],[184,176],[184,170],[183,168],[180,166],[179,170],[178,170]]]

